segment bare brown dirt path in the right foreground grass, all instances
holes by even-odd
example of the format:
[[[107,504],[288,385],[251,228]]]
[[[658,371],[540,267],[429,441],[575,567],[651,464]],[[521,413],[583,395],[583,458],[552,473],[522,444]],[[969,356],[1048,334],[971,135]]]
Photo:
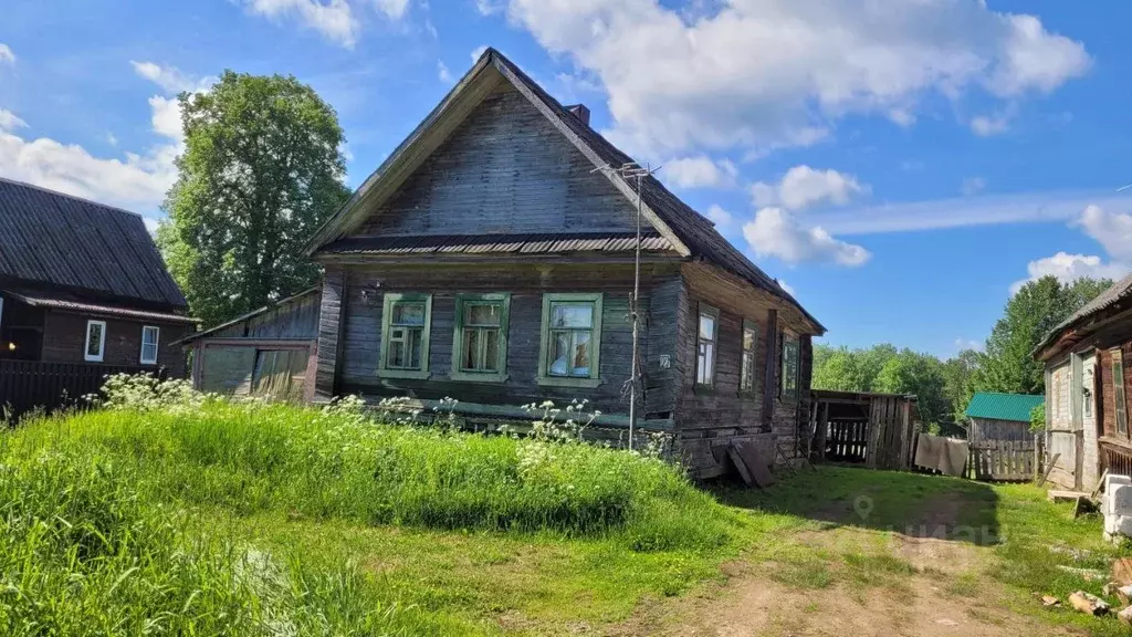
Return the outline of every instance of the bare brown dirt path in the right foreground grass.
[[[954,524],[958,501],[933,502],[917,520]],[[724,584],[677,601],[643,604],[614,635],[695,637],[1032,637],[1072,635],[1011,610],[1007,593],[986,569],[990,549],[969,542],[855,527],[797,534],[788,546],[820,555],[833,569],[816,586],[783,581],[788,560],[728,564]],[[798,551],[800,550],[800,551]],[[852,559],[864,555],[859,560]],[[881,563],[889,571],[852,570]],[[822,562],[811,568],[825,568]],[[839,570],[840,569],[840,570]],[[902,570],[901,570],[902,569]],[[818,571],[820,572],[820,571]]]

